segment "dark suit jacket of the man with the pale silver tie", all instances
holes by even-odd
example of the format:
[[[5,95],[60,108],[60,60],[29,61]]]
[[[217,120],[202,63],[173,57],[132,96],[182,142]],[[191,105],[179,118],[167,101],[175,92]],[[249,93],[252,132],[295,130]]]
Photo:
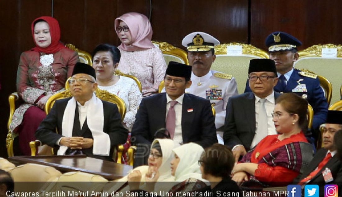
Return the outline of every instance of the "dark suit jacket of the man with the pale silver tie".
[[[277,99],[279,93],[274,92]],[[255,135],[255,97],[253,92],[231,96],[227,103],[223,140],[226,146],[244,145],[248,151]]]

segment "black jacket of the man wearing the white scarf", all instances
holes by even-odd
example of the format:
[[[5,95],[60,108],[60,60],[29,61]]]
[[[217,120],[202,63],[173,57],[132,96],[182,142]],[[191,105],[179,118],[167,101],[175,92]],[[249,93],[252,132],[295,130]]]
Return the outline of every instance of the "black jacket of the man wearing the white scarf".
[[[56,142],[62,137],[63,115],[65,107],[70,99],[71,98],[56,100],[50,113],[41,122],[38,130],[35,133],[37,140],[40,140],[43,144],[47,144],[51,147],[55,147],[57,149],[59,148],[59,146],[56,145]],[[122,126],[118,107],[115,104],[106,101],[102,101],[102,103],[104,113],[103,129],[104,132],[109,135],[111,147],[113,147],[114,145],[125,143],[127,140],[128,131]],[[77,131],[77,129],[75,130],[75,126],[80,128],[77,107],[75,111],[73,136],[93,138],[91,131],[88,128],[87,121],[84,122],[82,130],[80,131]],[[55,132],[56,128],[58,133]],[[82,152],[88,156],[95,158],[110,159],[109,157],[111,157],[94,156],[92,154],[92,147],[89,149],[83,149]]]

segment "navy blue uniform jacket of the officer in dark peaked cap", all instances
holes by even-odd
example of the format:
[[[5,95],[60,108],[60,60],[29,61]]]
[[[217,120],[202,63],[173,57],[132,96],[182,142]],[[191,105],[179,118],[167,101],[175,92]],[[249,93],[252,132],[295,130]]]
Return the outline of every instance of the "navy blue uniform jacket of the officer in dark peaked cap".
[[[291,74],[289,81],[287,83],[287,86],[285,89],[282,89],[280,80],[278,81],[277,85],[274,87],[274,91],[276,92],[292,92],[292,90],[298,86],[299,80],[301,84],[305,84],[307,92],[293,92],[298,94],[299,96],[302,96],[303,94],[307,95],[307,102],[312,106],[314,109],[314,118],[312,121],[312,128],[317,130],[319,126],[327,120],[327,114],[328,114],[328,103],[324,96],[324,92],[319,86],[319,80],[318,78],[313,79],[310,77],[305,77],[302,75],[299,75],[300,70],[294,69],[293,73]],[[245,92],[251,92],[251,89],[249,88],[249,83],[247,80]],[[319,130],[317,130],[319,131]],[[320,133],[314,133],[315,137],[317,139],[318,134]]]

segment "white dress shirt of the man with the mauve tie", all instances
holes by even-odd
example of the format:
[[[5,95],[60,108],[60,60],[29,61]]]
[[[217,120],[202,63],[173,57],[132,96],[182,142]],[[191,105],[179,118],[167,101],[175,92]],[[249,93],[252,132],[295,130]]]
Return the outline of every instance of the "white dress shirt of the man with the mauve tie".
[[[176,114],[176,126],[174,128],[174,136],[173,136],[173,141],[178,142],[180,144],[183,144],[183,135],[182,135],[182,106],[183,106],[183,98],[184,94],[182,94],[180,97],[175,99],[178,103],[174,105],[174,111]],[[168,111],[170,108],[170,101],[172,99],[169,97],[168,94],[166,94],[166,116],[165,116],[165,121],[168,115]]]

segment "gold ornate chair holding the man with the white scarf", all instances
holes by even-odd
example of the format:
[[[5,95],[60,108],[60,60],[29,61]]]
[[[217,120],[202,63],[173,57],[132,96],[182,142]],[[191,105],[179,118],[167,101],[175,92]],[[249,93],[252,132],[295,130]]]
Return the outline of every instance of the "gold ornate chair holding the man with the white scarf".
[[[119,109],[119,113],[121,115],[121,121],[123,120],[123,118],[126,115],[126,104],[120,97],[118,97],[117,95],[111,94],[111,93],[107,92],[106,90],[101,90],[98,88],[95,91],[95,95],[103,101],[108,101],[110,103],[116,104],[118,109]],[[67,89],[63,92],[59,92],[59,93],[51,96],[45,104],[45,113],[48,114],[50,112],[50,110],[51,110],[51,108],[52,108],[52,106],[56,100],[65,99],[68,97],[71,97],[70,89]],[[35,156],[37,148],[39,150],[39,147],[41,147],[40,141],[38,141],[38,140],[32,141],[32,142],[30,142],[29,145],[31,148],[31,155]],[[42,152],[43,154],[49,153],[49,155],[51,155],[51,153],[52,153],[52,155],[53,155],[53,149],[51,147],[48,147],[47,145],[44,145],[44,146],[45,147],[40,148],[42,150],[39,152]],[[113,157],[115,157],[116,155],[118,156],[117,163],[121,163],[122,150],[123,150],[123,146],[119,145],[117,147],[117,150],[116,150],[117,154],[113,154]]]

